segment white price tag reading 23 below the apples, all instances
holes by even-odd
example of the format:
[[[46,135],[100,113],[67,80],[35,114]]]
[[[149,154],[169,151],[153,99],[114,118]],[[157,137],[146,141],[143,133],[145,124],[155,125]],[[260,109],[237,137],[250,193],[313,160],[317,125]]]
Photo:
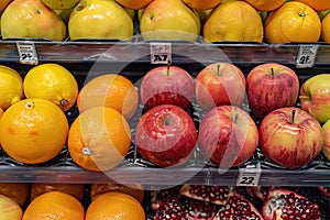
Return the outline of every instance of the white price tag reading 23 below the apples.
[[[239,169],[238,186],[257,186],[261,176],[260,163]]]

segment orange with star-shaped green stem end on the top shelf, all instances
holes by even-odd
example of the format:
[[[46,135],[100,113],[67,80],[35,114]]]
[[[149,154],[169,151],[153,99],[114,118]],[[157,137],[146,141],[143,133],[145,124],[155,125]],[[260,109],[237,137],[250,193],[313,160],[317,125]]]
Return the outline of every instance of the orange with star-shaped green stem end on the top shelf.
[[[265,38],[271,44],[318,42],[320,35],[318,13],[298,1],[285,2],[271,12],[265,21]]]

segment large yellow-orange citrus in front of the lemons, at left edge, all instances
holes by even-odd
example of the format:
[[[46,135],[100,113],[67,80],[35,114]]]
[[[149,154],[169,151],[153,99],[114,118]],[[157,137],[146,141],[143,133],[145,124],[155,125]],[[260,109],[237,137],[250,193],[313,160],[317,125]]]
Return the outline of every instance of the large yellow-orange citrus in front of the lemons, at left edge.
[[[1,117],[1,145],[18,162],[34,164],[55,157],[64,147],[68,121],[45,99],[23,99]]]

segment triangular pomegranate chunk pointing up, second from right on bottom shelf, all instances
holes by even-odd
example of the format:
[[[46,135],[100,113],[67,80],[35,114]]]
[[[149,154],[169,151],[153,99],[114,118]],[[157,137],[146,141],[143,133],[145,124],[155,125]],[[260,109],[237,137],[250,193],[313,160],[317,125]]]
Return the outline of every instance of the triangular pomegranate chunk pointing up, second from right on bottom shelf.
[[[253,204],[234,193],[218,211],[213,220],[263,220]]]

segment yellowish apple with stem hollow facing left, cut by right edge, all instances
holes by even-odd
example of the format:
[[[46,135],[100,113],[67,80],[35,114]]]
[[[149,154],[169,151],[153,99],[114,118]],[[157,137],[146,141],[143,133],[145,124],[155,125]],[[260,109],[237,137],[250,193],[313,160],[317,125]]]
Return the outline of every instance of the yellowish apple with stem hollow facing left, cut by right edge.
[[[308,111],[320,123],[330,119],[330,74],[308,78],[300,88],[301,109]]]

